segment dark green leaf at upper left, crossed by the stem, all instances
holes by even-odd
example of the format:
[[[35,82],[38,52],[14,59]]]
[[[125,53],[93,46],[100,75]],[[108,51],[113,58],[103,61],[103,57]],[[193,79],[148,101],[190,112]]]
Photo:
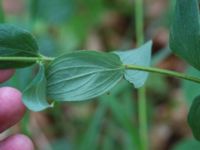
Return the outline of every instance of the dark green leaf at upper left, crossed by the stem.
[[[0,25],[1,57],[37,57],[38,45],[35,38],[27,31],[12,25]],[[32,65],[32,62],[3,61],[0,69],[20,68]]]

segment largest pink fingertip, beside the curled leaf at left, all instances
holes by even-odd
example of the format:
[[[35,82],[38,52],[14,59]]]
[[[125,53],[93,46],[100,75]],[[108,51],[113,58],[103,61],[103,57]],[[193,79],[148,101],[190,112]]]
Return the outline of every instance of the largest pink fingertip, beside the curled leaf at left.
[[[20,91],[11,87],[0,88],[0,133],[15,125],[25,111]]]

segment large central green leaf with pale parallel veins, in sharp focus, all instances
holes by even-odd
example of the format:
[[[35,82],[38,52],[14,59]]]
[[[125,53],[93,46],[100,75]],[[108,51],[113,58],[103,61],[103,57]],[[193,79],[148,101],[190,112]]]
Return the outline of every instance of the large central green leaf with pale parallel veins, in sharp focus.
[[[77,51],[63,55],[47,70],[48,96],[57,101],[92,99],[113,88],[124,70],[112,53]]]

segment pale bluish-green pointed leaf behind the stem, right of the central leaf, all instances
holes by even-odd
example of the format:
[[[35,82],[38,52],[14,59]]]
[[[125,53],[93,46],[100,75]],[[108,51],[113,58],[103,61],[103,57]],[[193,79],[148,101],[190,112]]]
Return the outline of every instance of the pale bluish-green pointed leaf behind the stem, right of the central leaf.
[[[150,66],[152,41],[143,46],[130,51],[115,52],[123,64],[132,64],[139,66]],[[140,88],[147,80],[148,73],[137,70],[126,70],[125,79],[131,82],[135,88]]]

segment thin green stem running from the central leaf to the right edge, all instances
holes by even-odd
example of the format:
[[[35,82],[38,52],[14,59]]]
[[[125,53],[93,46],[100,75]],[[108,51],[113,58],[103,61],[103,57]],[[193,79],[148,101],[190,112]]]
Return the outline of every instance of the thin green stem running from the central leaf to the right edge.
[[[188,81],[192,81],[192,82],[196,82],[200,84],[200,78],[190,76],[184,73],[176,72],[176,71],[165,70],[165,69],[154,68],[154,67],[137,66],[137,65],[125,65],[125,68],[129,70],[140,70],[140,71],[145,71],[145,72],[168,75],[171,77],[176,77],[176,78],[180,78],[180,79],[184,79],[184,80],[188,80]]]

